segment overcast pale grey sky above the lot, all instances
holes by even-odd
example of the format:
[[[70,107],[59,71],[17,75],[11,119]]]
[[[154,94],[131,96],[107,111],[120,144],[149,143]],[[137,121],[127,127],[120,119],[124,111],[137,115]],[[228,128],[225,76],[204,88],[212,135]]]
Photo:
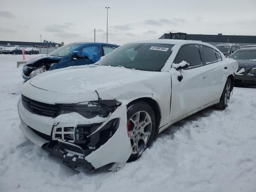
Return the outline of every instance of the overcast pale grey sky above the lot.
[[[0,40],[108,42],[167,32],[256,35],[256,0],[0,0]]]

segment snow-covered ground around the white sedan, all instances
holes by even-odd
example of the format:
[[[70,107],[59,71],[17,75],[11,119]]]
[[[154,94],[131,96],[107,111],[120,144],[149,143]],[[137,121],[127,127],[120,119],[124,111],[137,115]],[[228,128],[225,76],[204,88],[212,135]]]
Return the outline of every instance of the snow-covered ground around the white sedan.
[[[22,55],[0,55],[0,192],[256,191],[256,89],[234,88],[226,110],[178,122],[118,172],[78,173],[18,129],[17,60]]]

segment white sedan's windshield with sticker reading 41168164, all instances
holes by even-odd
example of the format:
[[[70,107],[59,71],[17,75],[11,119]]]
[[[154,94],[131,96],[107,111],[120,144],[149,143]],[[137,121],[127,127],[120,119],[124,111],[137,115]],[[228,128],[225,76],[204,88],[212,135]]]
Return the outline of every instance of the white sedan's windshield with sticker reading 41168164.
[[[100,61],[102,65],[160,71],[172,53],[172,44],[136,43],[124,45]]]

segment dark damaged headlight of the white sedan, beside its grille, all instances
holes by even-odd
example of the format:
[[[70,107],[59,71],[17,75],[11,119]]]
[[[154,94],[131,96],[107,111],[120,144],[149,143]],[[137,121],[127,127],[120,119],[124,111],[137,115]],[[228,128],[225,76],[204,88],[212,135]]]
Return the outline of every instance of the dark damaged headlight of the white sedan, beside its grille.
[[[89,105],[80,105],[80,104],[74,104],[74,105],[63,105],[60,107],[60,114],[66,114],[66,113],[72,113],[77,112],[80,115],[84,116],[85,118],[94,118],[95,116],[100,117],[107,117],[110,112],[112,112],[108,108],[104,108],[102,106],[97,106],[89,104]]]

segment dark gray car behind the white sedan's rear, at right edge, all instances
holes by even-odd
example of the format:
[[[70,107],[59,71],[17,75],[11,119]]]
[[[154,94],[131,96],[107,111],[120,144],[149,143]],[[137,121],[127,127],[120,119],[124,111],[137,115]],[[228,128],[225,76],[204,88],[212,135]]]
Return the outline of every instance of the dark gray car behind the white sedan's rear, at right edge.
[[[230,58],[238,61],[235,83],[256,86],[256,47],[239,49]]]

